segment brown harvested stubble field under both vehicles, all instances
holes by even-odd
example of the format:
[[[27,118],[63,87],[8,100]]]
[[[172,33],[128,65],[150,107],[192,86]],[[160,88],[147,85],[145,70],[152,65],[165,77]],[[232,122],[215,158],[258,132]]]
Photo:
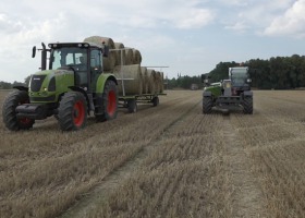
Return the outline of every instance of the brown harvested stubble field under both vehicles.
[[[253,116],[167,93],[77,132],[1,121],[0,217],[304,217],[305,92],[255,90]]]

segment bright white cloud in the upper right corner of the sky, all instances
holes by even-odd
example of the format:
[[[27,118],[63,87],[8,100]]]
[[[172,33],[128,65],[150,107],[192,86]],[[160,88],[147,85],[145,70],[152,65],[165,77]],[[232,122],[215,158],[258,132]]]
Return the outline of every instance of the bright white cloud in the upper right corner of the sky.
[[[305,37],[305,0],[297,0],[283,15],[273,19],[264,35]]]

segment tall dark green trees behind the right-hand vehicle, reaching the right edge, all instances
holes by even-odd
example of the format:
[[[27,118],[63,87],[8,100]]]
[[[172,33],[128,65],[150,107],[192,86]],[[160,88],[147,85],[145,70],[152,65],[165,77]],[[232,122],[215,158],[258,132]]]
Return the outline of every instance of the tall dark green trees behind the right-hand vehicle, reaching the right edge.
[[[212,82],[228,78],[229,68],[236,62],[220,62],[209,72]],[[305,56],[273,57],[269,60],[252,59],[243,65],[249,68],[252,87],[259,89],[291,89],[305,87]]]

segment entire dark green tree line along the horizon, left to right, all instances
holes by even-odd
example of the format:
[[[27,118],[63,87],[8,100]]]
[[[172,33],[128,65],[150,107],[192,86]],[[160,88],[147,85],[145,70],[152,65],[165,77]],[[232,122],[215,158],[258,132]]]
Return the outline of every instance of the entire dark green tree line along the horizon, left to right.
[[[229,77],[229,68],[239,66],[241,63],[220,62],[208,74],[211,82],[219,82]],[[305,87],[305,56],[293,55],[291,57],[272,57],[268,60],[251,59],[243,65],[249,68],[252,86],[259,89],[291,89]],[[0,89],[11,89],[13,86],[27,86],[29,76],[24,82],[7,83],[0,81]],[[202,76],[188,76],[178,74],[178,77],[164,78],[166,88],[190,89],[192,84],[203,87]]]

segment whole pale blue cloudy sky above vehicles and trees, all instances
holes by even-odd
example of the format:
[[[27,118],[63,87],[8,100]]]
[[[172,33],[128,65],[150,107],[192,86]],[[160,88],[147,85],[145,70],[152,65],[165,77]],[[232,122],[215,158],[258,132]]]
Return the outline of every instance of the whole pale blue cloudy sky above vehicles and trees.
[[[305,0],[1,0],[0,81],[40,66],[41,43],[110,37],[169,78],[219,62],[305,53]],[[169,68],[159,68],[169,66]]]

